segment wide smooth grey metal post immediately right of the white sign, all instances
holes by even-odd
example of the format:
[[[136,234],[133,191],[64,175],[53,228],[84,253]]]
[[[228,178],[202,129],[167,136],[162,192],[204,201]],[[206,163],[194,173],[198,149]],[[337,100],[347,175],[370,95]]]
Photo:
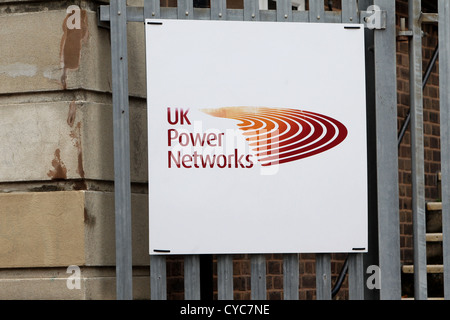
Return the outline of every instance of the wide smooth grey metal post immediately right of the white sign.
[[[374,30],[380,298],[397,300],[401,299],[401,266],[395,1],[375,0],[374,4],[387,11],[386,29]]]

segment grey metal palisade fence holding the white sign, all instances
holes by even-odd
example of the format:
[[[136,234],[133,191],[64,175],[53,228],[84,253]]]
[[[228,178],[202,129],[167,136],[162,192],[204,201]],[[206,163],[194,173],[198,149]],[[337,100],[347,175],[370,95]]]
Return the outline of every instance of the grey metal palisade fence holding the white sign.
[[[350,299],[401,299],[401,264],[397,149],[396,11],[392,0],[341,0],[340,11],[326,10],[323,0],[276,1],[269,10],[267,1],[243,0],[243,9],[228,9],[226,0],[211,0],[208,8],[195,8],[193,0],[178,0],[177,7],[160,7],[160,0],[144,0],[143,7],[127,7],[125,0],[111,0],[101,6],[99,24],[111,29],[117,298],[132,298],[129,115],[127,74],[127,22],[158,19],[211,19],[310,23],[363,23],[366,25],[366,87],[369,172],[369,253],[349,254]],[[416,299],[427,297],[425,248],[424,156],[422,126],[421,23],[439,21],[441,142],[450,134],[450,2],[439,0],[437,15],[422,14],[421,1],[409,1],[411,37],[411,126],[413,157],[413,216]],[[376,17],[376,19],[375,19]],[[375,19],[375,20],[374,20]],[[349,97],[351,98],[351,97]],[[450,148],[442,144],[442,194],[444,233],[444,274],[448,282],[450,254],[448,242],[450,190]],[[330,239],[333,241],[333,239]],[[317,299],[331,299],[330,254],[316,254]],[[380,290],[369,290],[365,283],[368,266],[379,266]],[[200,299],[200,257],[185,257],[185,299]],[[299,255],[287,254],[283,260],[284,298],[299,297]],[[165,299],[166,259],[151,256],[151,299]],[[218,298],[233,299],[233,256],[217,259]],[[445,297],[450,298],[450,285]],[[266,298],[264,255],[251,255],[251,298]]]

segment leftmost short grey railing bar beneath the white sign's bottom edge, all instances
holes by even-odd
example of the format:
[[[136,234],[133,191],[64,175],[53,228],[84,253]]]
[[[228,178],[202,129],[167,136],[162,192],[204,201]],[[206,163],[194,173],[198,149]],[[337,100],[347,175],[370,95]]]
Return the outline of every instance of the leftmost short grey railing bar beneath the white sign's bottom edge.
[[[150,299],[167,299],[166,256],[150,256]]]

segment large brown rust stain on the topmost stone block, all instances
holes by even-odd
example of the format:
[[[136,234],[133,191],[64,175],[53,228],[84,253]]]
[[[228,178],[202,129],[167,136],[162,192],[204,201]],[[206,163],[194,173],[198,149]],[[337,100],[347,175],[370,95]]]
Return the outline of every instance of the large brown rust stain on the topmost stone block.
[[[64,34],[61,39],[60,59],[63,68],[61,84],[64,89],[67,89],[67,71],[77,70],[80,66],[81,49],[83,47],[83,42],[86,42],[89,36],[86,10],[80,10],[81,21],[79,29],[69,29],[67,27],[67,20],[71,16],[72,13],[67,14],[62,25]]]

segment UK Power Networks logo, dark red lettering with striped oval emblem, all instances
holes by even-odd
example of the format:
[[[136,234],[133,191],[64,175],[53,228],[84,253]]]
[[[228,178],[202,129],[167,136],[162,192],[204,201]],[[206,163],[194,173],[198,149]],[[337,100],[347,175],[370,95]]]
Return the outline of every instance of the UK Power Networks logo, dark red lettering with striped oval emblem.
[[[261,169],[266,169],[261,174],[272,175],[278,165],[323,153],[342,143],[348,135],[347,128],[331,117],[268,107],[201,109],[213,117],[239,121],[236,129],[223,132],[209,128],[204,132],[203,122],[191,121],[189,111],[167,108],[169,169],[250,169],[257,162]],[[234,144],[238,131],[245,138],[244,148]]]

